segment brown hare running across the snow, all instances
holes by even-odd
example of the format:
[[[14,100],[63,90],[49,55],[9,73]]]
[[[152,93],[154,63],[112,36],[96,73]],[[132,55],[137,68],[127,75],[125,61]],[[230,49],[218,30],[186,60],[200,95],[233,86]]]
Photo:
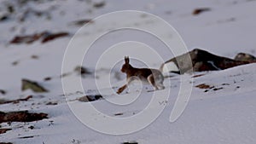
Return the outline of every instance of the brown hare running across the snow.
[[[151,68],[135,68],[129,64],[128,56],[125,56],[125,64],[122,66],[121,72],[126,73],[127,83],[118,89],[117,94],[122,93],[127,86],[136,79],[152,84],[155,90],[165,89],[163,84],[164,76],[159,70]]]

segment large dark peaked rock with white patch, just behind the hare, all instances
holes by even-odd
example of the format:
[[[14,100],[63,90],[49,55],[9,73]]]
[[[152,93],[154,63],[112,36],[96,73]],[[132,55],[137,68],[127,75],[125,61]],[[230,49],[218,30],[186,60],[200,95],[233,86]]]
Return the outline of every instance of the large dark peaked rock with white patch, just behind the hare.
[[[189,53],[167,60],[160,66],[160,71],[180,74],[185,72],[217,71],[248,63],[248,61],[232,60],[223,56],[213,55],[202,49],[193,49]]]

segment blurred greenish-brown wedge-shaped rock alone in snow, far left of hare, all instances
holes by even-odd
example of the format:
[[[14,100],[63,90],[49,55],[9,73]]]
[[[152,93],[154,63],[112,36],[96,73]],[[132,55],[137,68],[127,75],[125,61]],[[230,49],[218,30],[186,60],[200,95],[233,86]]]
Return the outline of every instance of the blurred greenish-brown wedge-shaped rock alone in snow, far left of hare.
[[[26,89],[32,89],[33,92],[37,92],[37,93],[48,92],[47,89],[44,89],[44,87],[39,85],[37,82],[33,82],[28,79],[22,79],[21,82],[22,82],[22,85],[21,85],[22,91]]]

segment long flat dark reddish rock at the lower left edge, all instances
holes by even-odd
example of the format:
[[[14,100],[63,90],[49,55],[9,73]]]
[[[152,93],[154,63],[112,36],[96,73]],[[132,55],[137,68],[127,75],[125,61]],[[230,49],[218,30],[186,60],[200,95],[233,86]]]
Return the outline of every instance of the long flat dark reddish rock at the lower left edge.
[[[32,122],[42,120],[47,117],[46,113],[30,113],[28,111],[20,112],[1,112],[0,111],[0,124],[6,122]]]

